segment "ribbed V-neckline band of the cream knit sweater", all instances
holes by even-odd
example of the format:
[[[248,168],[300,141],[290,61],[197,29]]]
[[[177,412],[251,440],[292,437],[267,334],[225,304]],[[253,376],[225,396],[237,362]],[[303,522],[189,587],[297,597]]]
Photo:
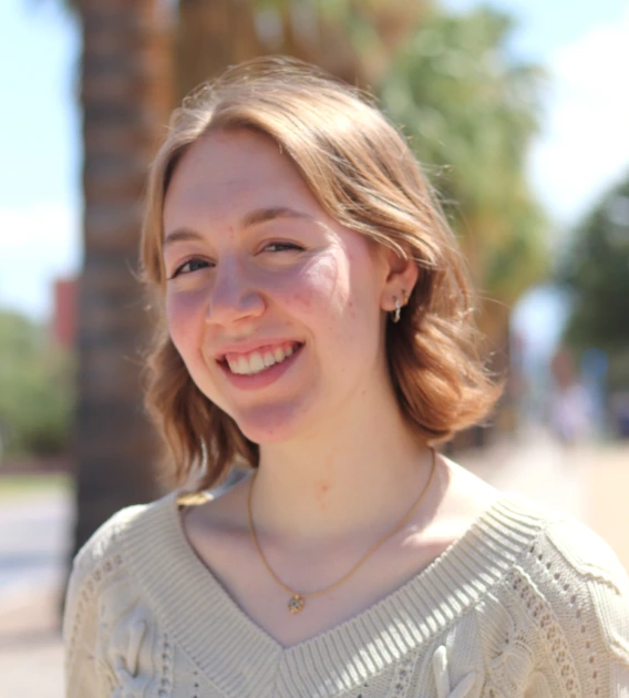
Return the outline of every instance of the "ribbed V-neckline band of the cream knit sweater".
[[[283,647],[234,601],[183,530],[178,492],[126,530],[134,578],[167,634],[226,696],[327,696],[363,685],[465,614],[513,566],[542,515],[503,494],[436,560],[372,606]],[[313,691],[313,687],[316,687]]]

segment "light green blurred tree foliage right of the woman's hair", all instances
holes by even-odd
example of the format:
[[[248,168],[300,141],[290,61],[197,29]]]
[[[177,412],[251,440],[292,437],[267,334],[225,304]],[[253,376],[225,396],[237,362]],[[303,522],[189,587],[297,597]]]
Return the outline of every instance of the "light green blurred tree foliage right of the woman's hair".
[[[525,174],[544,72],[509,58],[512,31],[511,18],[488,8],[432,12],[381,90],[419,158],[441,172],[437,188],[476,281],[506,302],[545,273],[547,258],[546,218]]]

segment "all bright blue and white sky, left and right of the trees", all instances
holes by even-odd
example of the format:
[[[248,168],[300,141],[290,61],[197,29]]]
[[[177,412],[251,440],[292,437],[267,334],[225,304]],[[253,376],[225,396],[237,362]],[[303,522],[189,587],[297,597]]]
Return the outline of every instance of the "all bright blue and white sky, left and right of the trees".
[[[80,38],[59,4],[0,2],[0,306],[39,318],[50,312],[52,279],[81,263]],[[569,227],[629,168],[629,2],[491,4],[519,20],[514,53],[551,75],[529,176],[557,227]]]

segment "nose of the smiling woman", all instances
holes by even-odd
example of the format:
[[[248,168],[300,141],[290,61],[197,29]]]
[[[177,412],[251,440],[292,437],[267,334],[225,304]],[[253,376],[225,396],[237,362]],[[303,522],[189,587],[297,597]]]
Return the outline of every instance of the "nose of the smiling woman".
[[[265,300],[241,264],[221,260],[215,270],[205,320],[209,324],[230,325],[255,319],[265,311]]]

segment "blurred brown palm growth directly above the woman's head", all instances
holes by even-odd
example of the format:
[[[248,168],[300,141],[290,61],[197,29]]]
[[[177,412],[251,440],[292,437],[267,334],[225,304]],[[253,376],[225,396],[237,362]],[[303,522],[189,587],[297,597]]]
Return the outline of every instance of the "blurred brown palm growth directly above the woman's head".
[[[267,53],[375,81],[427,0],[178,0],[177,102],[227,65]]]

